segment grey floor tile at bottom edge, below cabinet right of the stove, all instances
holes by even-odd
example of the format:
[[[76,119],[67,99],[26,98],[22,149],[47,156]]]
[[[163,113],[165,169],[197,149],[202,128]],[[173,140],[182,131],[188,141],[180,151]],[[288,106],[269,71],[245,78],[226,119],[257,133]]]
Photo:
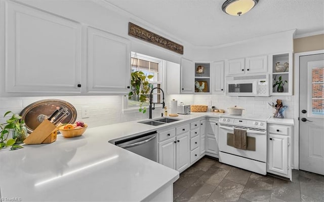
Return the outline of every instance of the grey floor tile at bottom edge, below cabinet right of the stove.
[[[284,201],[301,201],[299,182],[274,179],[271,197]]]

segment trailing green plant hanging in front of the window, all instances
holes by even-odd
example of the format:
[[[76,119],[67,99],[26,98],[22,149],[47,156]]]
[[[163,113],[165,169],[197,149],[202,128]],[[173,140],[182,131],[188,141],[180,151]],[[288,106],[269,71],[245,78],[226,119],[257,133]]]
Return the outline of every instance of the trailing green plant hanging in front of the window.
[[[142,107],[144,102],[148,102],[146,94],[150,92],[150,84],[148,79],[153,78],[154,75],[145,75],[142,71],[133,71],[131,73],[131,92],[129,92],[129,99],[134,98],[139,101],[139,111],[145,113],[146,107]]]

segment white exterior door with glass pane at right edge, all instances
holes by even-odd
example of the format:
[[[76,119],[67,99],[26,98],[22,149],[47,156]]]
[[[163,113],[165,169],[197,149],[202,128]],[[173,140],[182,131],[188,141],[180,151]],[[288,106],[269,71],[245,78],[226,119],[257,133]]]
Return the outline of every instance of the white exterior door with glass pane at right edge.
[[[299,57],[299,169],[324,175],[324,54]]]

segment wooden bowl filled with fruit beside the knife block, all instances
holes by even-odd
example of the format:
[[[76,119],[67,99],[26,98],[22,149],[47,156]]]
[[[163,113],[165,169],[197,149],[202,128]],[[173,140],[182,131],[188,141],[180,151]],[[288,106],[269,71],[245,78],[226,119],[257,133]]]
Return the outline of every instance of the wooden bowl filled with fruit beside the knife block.
[[[60,133],[66,138],[73,138],[83,135],[88,128],[88,125],[82,121],[75,124],[67,124],[59,128]]]

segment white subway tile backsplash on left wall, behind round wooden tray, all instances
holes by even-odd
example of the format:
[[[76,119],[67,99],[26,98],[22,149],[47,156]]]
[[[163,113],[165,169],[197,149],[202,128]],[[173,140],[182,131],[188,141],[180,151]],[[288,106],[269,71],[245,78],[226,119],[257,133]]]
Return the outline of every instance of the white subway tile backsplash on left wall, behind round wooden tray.
[[[148,118],[148,112],[143,114],[138,110],[123,113],[124,96],[57,96],[57,97],[13,97],[0,98],[0,123],[5,123],[8,117],[2,117],[6,111],[20,113],[29,104],[44,99],[60,99],[71,103],[77,112],[76,120],[83,120],[89,127],[110,125],[131,120]],[[89,107],[89,118],[82,118],[82,107]],[[153,116],[158,116],[162,110],[153,110]]]

